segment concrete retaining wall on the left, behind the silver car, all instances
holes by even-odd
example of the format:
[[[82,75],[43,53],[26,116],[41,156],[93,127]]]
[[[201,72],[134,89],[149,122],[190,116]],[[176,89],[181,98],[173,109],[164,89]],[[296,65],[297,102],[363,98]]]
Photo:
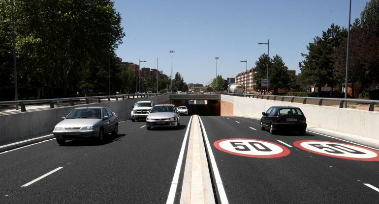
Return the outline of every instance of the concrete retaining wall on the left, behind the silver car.
[[[0,143],[50,132],[61,121],[62,116],[66,116],[76,107],[105,106],[115,112],[120,120],[127,120],[131,117],[131,106],[138,101],[153,101],[156,104],[169,102],[168,95],[163,95],[0,115]]]

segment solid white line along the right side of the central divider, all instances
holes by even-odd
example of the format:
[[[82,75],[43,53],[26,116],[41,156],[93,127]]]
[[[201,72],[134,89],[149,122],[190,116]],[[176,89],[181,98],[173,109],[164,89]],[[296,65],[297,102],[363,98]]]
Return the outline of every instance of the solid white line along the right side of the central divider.
[[[200,119],[201,129],[203,130],[204,140],[205,140],[205,143],[207,144],[206,149],[207,149],[209,158],[211,160],[211,165],[212,165],[213,173],[215,175],[215,179],[216,179],[216,183],[217,183],[217,189],[219,191],[221,204],[228,204],[228,199],[226,198],[225,189],[224,189],[223,184],[222,184],[219,169],[217,168],[215,156],[213,155],[211,145],[209,144],[207,132],[205,131],[204,124],[203,124],[203,121],[201,120],[200,116],[199,116],[199,119]]]

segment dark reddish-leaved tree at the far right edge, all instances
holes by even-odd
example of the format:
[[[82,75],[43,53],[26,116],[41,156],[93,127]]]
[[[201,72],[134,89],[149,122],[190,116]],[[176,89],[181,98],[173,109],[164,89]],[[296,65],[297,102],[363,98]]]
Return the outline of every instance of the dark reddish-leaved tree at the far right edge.
[[[347,40],[336,49],[333,57],[340,78],[346,76]],[[379,81],[379,1],[366,3],[361,18],[355,19],[350,32],[348,81],[360,85],[362,92]],[[354,89],[352,89],[354,95]]]

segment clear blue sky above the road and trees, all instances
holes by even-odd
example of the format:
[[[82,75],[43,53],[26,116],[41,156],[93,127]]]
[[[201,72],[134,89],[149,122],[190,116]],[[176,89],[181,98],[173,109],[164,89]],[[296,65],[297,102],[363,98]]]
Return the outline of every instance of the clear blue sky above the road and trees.
[[[351,22],[367,0],[352,0]],[[116,51],[124,62],[142,62],[168,76],[179,72],[187,83],[205,83],[218,74],[234,77],[254,66],[270,39],[270,56],[279,54],[300,72],[301,53],[332,23],[347,27],[349,0],[115,0],[126,33]]]

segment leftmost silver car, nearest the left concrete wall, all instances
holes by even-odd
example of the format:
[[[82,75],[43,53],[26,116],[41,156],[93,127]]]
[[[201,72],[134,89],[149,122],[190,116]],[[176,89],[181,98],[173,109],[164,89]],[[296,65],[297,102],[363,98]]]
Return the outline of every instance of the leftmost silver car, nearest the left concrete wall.
[[[86,139],[103,142],[107,133],[117,135],[118,125],[117,115],[107,107],[80,107],[62,117],[53,134],[58,144],[66,140]]]

